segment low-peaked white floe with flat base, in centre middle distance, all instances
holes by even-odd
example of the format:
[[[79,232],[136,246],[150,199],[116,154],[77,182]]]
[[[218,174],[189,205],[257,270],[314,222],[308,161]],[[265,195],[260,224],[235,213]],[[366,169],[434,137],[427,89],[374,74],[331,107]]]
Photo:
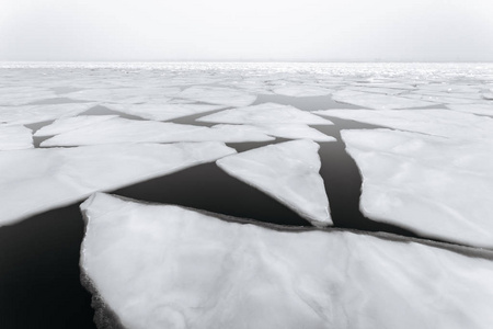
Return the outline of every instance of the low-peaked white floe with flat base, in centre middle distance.
[[[307,124],[332,125],[329,120],[290,105],[263,103],[246,107],[225,110],[197,118],[200,122],[229,124]]]

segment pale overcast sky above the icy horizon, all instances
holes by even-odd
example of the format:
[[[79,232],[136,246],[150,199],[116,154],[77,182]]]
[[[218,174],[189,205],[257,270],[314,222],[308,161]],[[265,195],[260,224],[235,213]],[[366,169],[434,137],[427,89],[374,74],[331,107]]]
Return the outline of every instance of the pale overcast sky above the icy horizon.
[[[493,61],[493,0],[0,0],[0,60]]]

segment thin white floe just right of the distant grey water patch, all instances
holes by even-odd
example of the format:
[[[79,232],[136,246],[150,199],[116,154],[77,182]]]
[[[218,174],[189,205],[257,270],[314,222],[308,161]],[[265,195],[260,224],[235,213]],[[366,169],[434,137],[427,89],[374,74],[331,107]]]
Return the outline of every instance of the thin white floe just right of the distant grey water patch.
[[[353,90],[342,90],[334,92],[332,94],[332,99],[336,102],[359,105],[374,110],[399,110],[435,105],[435,103],[422,100],[412,100],[408,98]]]

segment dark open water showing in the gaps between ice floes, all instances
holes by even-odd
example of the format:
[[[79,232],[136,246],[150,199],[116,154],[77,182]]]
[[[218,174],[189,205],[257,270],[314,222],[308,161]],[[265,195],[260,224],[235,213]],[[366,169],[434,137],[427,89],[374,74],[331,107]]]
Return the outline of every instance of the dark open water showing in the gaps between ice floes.
[[[357,109],[330,97],[290,98],[261,95],[256,104],[276,102],[301,110]],[[115,112],[96,106],[85,114]],[[175,120],[176,123],[210,125],[194,120],[205,114]],[[122,115],[129,117],[128,115]],[[129,117],[135,118],[135,117]],[[314,126],[337,138],[320,143],[321,175],[325,182],[335,227],[387,231],[414,237],[409,230],[365,218],[358,208],[362,178],[345,152],[340,131],[378,128],[334,118],[334,126]],[[49,123],[49,122],[48,122]],[[48,124],[30,125],[39,128]],[[38,144],[44,138],[37,138]],[[274,143],[285,141],[276,139]],[[267,143],[229,144],[238,151]],[[115,194],[142,201],[179,204],[215,213],[289,226],[309,226],[296,213],[262,192],[229,177],[214,162],[141,182]],[[0,328],[95,328],[91,296],[80,284],[79,248],[83,223],[79,204],[54,209],[22,223],[0,228]]]

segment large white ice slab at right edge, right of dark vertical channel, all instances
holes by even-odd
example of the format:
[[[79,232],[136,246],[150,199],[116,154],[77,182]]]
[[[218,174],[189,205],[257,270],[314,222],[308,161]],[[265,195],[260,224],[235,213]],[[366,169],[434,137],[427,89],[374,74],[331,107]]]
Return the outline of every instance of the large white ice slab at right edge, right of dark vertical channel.
[[[493,144],[388,129],[343,131],[369,218],[493,248]]]

